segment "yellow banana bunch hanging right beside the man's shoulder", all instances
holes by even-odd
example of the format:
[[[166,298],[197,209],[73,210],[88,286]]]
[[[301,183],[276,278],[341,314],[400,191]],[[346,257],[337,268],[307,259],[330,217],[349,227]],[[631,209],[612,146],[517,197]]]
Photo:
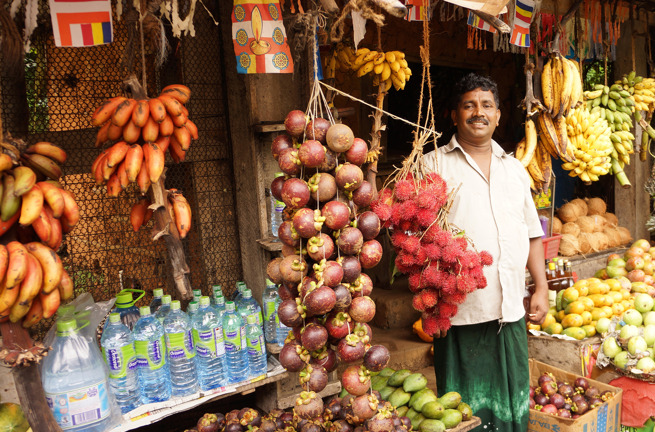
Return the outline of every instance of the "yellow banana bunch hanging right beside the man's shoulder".
[[[552,179],[552,161],[550,154],[540,144],[534,120],[525,120],[525,137],[516,146],[515,157],[530,175],[530,188],[535,192],[545,192]]]

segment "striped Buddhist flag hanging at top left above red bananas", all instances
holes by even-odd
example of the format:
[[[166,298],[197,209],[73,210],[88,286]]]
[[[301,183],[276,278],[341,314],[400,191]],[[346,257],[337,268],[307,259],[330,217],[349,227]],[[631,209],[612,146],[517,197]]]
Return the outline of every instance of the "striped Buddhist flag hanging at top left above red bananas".
[[[114,39],[110,0],[49,0],[58,47],[104,45]]]

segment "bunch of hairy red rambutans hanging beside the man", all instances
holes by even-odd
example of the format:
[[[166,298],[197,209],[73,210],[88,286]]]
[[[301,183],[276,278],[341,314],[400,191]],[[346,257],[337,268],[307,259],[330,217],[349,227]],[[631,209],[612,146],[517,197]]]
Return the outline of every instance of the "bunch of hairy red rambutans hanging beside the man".
[[[397,176],[371,205],[393,232],[396,268],[409,276],[412,306],[422,312],[430,336],[448,330],[457,305],[487,286],[482,268],[493,261],[488,252],[469,248],[464,232],[448,225],[452,198],[439,174],[410,173]]]

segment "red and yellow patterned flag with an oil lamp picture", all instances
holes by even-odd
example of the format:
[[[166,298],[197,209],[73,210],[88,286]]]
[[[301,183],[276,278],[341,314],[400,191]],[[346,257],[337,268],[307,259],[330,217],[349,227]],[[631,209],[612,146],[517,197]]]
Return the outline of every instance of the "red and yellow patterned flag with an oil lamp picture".
[[[279,0],[234,0],[232,40],[237,72],[293,73]]]

